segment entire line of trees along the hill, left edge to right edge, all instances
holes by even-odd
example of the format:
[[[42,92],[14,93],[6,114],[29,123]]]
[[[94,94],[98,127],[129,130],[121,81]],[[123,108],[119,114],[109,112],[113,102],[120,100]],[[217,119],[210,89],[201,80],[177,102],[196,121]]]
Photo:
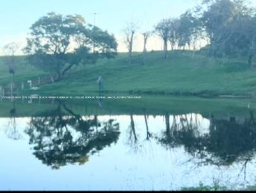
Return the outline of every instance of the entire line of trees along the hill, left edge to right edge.
[[[140,32],[143,36],[143,64],[148,40],[153,35],[163,40],[164,58],[168,57],[168,50],[196,50],[196,45],[202,41],[208,42],[203,49],[209,56],[246,57],[250,65],[255,56],[256,12],[246,0],[203,0],[202,4],[179,18],[163,19],[153,28]],[[100,58],[115,58],[117,54],[115,36],[87,24],[81,15],[48,13],[30,30],[23,49],[29,63],[49,75],[57,75],[58,80],[75,65],[94,64]],[[138,24],[134,22],[129,22],[123,30],[130,65],[138,31]],[[12,75],[15,74],[13,58],[17,48],[15,43],[4,47],[8,55],[6,64]]]

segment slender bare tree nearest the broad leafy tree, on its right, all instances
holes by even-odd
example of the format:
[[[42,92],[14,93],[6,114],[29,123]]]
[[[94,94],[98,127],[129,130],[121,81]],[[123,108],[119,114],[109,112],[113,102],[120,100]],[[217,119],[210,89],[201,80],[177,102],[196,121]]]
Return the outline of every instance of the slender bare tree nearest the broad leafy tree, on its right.
[[[124,43],[129,52],[129,65],[131,65],[132,59],[132,47],[134,42],[134,35],[138,31],[138,25],[135,22],[129,22],[124,29]]]

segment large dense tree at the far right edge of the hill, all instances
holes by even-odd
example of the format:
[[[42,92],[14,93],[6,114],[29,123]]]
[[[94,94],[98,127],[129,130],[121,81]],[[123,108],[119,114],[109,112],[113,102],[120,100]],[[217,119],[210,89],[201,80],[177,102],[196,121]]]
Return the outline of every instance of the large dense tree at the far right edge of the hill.
[[[212,56],[247,56],[252,65],[256,41],[255,9],[243,0],[218,0],[208,4],[202,22]]]

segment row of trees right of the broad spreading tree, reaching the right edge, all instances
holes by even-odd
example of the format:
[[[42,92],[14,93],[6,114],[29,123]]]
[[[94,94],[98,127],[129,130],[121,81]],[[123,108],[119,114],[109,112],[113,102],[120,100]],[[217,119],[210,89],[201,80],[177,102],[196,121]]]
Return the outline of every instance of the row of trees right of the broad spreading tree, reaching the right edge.
[[[131,56],[132,37],[139,28],[134,23],[126,28],[129,30],[125,29],[125,42]],[[179,18],[163,19],[152,31],[142,33],[144,48],[148,34],[163,40],[164,58],[167,58],[168,50],[184,50],[186,47],[196,50],[196,45],[204,41],[209,56],[247,57],[252,65],[256,51],[256,12],[246,0],[204,0]]]

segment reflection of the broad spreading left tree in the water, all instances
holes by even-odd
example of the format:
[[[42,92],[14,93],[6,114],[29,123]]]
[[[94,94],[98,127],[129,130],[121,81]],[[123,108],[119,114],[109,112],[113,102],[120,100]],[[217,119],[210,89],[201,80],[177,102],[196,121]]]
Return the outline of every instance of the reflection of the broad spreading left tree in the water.
[[[84,164],[90,154],[116,143],[120,134],[119,123],[114,120],[84,118],[61,102],[57,109],[33,117],[26,133],[29,144],[35,145],[34,155],[52,169]]]

